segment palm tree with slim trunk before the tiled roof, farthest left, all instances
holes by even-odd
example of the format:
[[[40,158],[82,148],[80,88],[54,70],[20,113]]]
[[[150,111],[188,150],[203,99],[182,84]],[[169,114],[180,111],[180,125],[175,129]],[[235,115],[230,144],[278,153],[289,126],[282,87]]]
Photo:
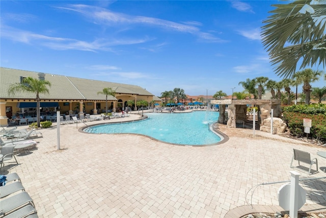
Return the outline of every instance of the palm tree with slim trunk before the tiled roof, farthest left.
[[[37,127],[40,127],[40,94],[49,93],[47,86],[51,87],[49,81],[27,77],[22,80],[22,83],[14,83],[9,88],[9,94],[15,94],[17,91],[34,92],[36,94]]]

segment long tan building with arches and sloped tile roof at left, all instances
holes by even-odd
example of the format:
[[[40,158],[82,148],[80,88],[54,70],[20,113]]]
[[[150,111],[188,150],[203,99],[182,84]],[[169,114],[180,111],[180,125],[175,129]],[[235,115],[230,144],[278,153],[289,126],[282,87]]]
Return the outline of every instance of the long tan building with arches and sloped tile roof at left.
[[[63,75],[45,74],[20,69],[0,67],[0,124],[7,125],[8,116],[15,113],[33,113],[36,111],[36,94],[32,92],[9,93],[12,84],[20,83],[24,78],[32,77],[49,81],[49,93],[41,93],[41,111],[46,109],[62,114],[91,113],[98,114],[105,111],[105,95],[97,94],[104,88],[112,88],[115,96],[107,96],[108,109],[113,112],[124,110],[127,101],[134,105],[137,101],[155,101],[156,97],[146,89],[130,84],[113,83],[99,80],[67,77]],[[154,99],[153,99],[154,98]],[[82,108],[83,110],[79,110]],[[133,107],[137,110],[137,107]]]

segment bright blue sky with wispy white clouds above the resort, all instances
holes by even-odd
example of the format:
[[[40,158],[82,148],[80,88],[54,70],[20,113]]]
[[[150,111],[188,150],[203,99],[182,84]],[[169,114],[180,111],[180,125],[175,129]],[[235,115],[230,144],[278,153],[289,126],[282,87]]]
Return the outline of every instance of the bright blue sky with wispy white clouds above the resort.
[[[157,96],[176,87],[231,94],[247,78],[281,80],[260,41],[279,3],[1,1],[0,64],[139,85]]]

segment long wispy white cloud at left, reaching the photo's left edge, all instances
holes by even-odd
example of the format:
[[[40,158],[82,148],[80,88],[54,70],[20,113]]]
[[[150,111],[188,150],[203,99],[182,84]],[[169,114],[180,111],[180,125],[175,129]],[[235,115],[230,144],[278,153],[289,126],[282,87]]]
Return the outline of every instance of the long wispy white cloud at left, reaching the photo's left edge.
[[[13,41],[39,44],[49,47],[53,50],[80,50],[80,51],[113,51],[112,46],[116,45],[129,45],[139,44],[150,41],[152,39],[145,37],[142,39],[95,39],[93,41],[82,41],[70,38],[51,37],[41,34],[36,34],[29,31],[18,30],[7,26],[1,27],[1,35],[4,38],[11,39]]]

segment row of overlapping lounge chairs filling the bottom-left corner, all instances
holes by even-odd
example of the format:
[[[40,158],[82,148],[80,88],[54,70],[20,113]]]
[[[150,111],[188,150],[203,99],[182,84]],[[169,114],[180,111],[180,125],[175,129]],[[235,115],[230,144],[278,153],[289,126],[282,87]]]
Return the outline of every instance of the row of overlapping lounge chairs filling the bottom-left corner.
[[[0,217],[38,217],[31,196],[25,191],[16,173],[2,175],[0,183]]]

